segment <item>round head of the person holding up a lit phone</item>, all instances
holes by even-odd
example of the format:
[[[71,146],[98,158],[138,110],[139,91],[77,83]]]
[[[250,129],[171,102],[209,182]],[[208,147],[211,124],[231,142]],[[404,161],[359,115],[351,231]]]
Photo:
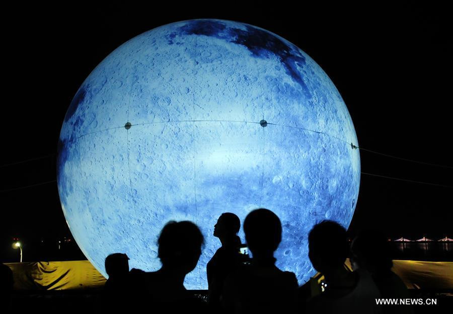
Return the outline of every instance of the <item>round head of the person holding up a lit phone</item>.
[[[270,258],[281,241],[281,222],[269,209],[255,209],[244,220],[244,232],[253,258]]]

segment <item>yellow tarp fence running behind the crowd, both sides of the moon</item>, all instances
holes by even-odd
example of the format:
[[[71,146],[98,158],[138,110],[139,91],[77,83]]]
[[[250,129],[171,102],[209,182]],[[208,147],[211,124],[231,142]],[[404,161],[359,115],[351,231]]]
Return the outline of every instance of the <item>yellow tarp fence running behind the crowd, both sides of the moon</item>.
[[[453,289],[453,262],[393,261],[409,289]],[[105,278],[89,261],[8,263],[18,290],[101,288]],[[349,260],[346,265],[350,267]]]

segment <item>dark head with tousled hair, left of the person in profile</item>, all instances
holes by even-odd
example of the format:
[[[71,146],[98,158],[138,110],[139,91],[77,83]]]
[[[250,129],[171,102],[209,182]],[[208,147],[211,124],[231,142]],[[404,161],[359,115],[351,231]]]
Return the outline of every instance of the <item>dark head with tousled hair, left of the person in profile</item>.
[[[203,234],[193,222],[168,222],[158,240],[162,267],[184,274],[191,272],[198,263],[203,243]]]

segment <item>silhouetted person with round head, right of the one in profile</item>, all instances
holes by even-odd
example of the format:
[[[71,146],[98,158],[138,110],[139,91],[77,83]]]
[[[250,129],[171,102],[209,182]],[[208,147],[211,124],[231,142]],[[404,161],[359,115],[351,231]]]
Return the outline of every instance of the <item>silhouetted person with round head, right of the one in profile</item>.
[[[250,265],[242,265],[225,280],[222,307],[228,313],[284,313],[294,310],[297,279],[275,266],[274,251],[281,241],[281,222],[264,208],[250,212],[244,232],[252,253]]]

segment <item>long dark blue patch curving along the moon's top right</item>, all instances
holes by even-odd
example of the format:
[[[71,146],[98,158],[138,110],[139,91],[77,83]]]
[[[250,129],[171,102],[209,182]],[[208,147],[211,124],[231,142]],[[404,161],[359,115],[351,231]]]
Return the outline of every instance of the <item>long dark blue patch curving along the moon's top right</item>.
[[[228,40],[247,47],[255,57],[269,58],[275,55],[286,69],[286,73],[292,77],[304,90],[306,95],[311,98],[311,94],[305,84],[297,66],[306,64],[305,57],[300,54],[297,47],[287,45],[273,34],[245,25],[247,30],[239,28],[227,28],[225,24],[212,20],[197,20],[180,27],[180,33],[184,35],[204,35],[218,39]],[[174,38],[176,33],[172,33],[168,38]]]

